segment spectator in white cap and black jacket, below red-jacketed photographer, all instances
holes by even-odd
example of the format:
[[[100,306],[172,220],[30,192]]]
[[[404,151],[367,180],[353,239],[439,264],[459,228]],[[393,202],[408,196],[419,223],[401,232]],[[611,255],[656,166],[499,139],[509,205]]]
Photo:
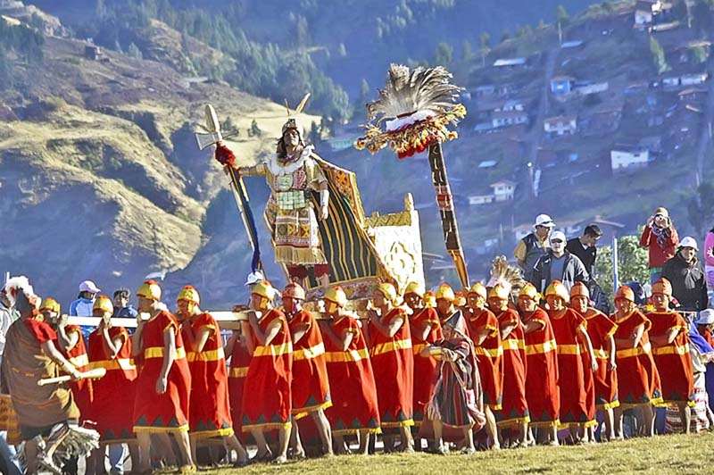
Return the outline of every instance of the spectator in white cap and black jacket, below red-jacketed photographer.
[[[707,281],[702,262],[697,259],[699,247],[693,237],[685,237],[674,257],[664,263],[662,277],[672,284],[672,295],[685,312],[707,308]]]

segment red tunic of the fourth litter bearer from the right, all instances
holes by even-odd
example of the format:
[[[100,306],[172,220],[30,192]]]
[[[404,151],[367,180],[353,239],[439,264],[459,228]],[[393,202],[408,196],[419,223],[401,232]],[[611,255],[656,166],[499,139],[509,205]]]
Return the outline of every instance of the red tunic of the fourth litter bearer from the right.
[[[560,426],[585,427],[594,425],[588,411],[585,391],[585,367],[577,333],[587,328],[587,321],[580,313],[568,308],[562,316],[551,318],[552,332],[558,346],[558,386],[560,387]],[[587,368],[587,371],[591,371]],[[594,415],[594,414],[592,414]]]

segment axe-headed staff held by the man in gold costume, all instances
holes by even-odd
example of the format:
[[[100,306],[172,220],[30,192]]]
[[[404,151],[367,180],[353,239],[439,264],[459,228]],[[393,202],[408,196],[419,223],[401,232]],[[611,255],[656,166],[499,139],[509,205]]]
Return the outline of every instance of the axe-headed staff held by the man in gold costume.
[[[205,133],[196,132],[195,139],[198,142],[198,148],[203,150],[208,146],[219,146],[223,139],[231,137],[236,134],[223,135],[220,131],[220,122],[218,121],[218,115],[216,115],[215,109],[211,104],[206,105],[206,123],[205,126],[201,126],[205,129]],[[230,154],[229,162],[235,162],[236,157],[232,152],[228,150]],[[232,164],[232,163],[228,163]],[[258,229],[255,227],[255,219],[253,218],[253,212],[251,211],[251,202],[248,199],[248,192],[245,189],[245,184],[243,183],[243,178],[238,174],[237,170],[232,166],[226,167],[228,170],[228,176],[230,177],[230,188],[233,191],[233,197],[236,198],[236,204],[238,206],[238,211],[240,212],[241,219],[243,220],[243,225],[245,226],[245,232],[248,234],[248,240],[253,248],[253,259],[251,261],[251,271],[263,271],[261,262],[261,248],[258,243]],[[263,271],[263,275],[265,275]]]

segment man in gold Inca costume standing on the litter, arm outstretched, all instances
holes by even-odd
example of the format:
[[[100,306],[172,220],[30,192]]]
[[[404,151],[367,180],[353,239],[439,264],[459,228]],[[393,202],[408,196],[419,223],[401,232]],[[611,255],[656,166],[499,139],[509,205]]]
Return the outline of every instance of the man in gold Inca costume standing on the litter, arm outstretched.
[[[307,96],[298,105],[301,112]],[[252,167],[238,167],[227,146],[219,144],[216,160],[232,166],[241,176],[261,175],[270,187],[265,221],[275,246],[275,260],[286,266],[290,279],[303,281],[312,268],[323,287],[329,283],[329,266],[320,243],[318,219],[328,218],[328,179],[317,162],[313,146],[305,142],[304,129],[290,115],[282,128],[275,156]]]

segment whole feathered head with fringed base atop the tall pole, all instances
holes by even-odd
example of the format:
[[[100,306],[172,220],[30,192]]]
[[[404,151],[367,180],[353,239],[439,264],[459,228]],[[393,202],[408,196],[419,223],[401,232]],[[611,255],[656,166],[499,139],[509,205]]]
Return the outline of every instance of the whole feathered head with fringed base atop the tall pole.
[[[379,90],[376,101],[367,104],[368,123],[357,148],[374,154],[388,145],[402,159],[423,152],[436,141],[458,137],[446,126],[456,125],[466,115],[466,108],[456,103],[462,88],[450,79],[452,74],[441,66],[410,71],[407,66],[392,64],[386,87]]]

